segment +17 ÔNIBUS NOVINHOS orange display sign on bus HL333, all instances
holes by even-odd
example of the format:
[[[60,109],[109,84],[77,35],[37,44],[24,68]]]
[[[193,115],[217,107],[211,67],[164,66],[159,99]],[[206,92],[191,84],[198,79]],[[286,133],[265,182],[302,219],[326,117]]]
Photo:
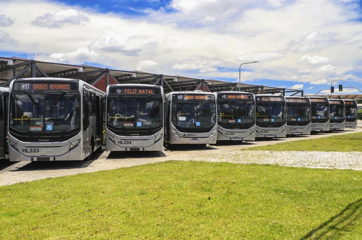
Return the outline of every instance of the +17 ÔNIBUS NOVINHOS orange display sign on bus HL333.
[[[75,91],[78,90],[78,84],[64,82],[19,82],[14,84],[14,90]]]

